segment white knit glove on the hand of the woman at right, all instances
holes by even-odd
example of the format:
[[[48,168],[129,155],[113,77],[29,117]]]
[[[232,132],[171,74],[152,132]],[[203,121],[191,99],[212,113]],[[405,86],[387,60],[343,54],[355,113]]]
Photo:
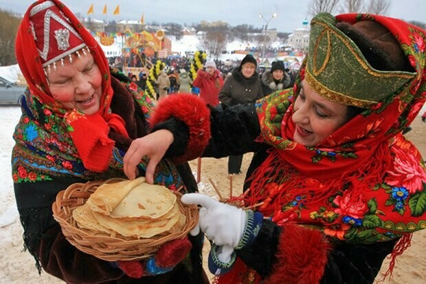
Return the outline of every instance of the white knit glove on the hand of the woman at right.
[[[184,204],[203,206],[199,212],[199,228],[208,239],[221,246],[218,258],[227,263],[231,259],[234,248],[243,237],[247,216],[245,211],[235,206],[218,202],[207,195],[188,193],[183,195]],[[193,230],[197,230],[197,227]]]

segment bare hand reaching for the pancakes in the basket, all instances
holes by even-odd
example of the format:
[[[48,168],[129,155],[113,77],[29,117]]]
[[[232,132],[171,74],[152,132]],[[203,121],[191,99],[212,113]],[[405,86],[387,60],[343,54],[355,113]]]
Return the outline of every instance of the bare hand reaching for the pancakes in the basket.
[[[126,176],[129,179],[135,179],[137,175],[136,166],[141,162],[142,157],[147,156],[149,162],[146,167],[146,182],[153,184],[155,168],[164,157],[164,154],[166,154],[173,140],[173,134],[167,129],[160,129],[133,140],[123,159]]]

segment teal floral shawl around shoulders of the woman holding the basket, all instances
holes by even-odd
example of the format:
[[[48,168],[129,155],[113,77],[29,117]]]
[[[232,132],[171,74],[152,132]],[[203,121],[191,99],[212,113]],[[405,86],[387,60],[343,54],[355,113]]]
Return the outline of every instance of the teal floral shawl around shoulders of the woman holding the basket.
[[[117,80],[113,79],[115,82]],[[128,92],[131,100],[139,105],[139,112],[150,118],[153,103],[148,96],[137,89],[135,83],[120,84],[120,91]],[[25,91],[22,100],[23,114],[14,132],[16,145],[12,152],[12,176],[15,183],[41,182],[56,176],[72,175],[85,180],[104,180],[110,177],[125,177],[122,170],[124,149],[111,149],[108,168],[102,173],[85,167],[67,131],[68,124],[56,116],[49,107],[41,104],[30,91]],[[146,160],[139,164],[144,172]],[[166,186],[180,187],[181,179],[175,166],[162,161],[155,174],[155,182]]]

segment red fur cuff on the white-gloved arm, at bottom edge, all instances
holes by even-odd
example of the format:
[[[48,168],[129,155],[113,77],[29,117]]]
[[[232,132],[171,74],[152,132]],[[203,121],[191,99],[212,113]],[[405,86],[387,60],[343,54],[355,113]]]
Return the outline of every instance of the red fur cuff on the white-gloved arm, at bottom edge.
[[[293,224],[282,229],[276,254],[278,262],[265,284],[320,283],[330,250],[324,234]]]

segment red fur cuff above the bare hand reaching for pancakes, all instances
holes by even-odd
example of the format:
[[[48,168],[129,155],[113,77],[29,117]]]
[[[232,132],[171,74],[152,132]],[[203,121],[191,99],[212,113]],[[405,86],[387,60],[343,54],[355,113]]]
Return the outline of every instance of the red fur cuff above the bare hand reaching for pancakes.
[[[210,140],[210,110],[203,100],[192,94],[167,96],[159,100],[149,122],[153,127],[175,117],[188,125],[190,137],[185,153],[174,158],[174,162],[181,163],[199,157]]]

